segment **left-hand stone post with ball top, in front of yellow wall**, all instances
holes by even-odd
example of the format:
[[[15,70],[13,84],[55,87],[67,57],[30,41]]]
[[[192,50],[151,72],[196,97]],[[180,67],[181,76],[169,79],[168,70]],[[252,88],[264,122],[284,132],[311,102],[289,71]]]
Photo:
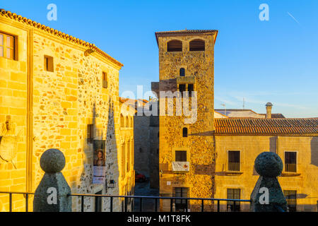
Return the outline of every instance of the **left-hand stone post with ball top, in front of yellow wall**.
[[[34,212],[71,212],[71,189],[61,170],[65,157],[60,150],[49,149],[42,154],[40,166],[45,174],[35,190]]]

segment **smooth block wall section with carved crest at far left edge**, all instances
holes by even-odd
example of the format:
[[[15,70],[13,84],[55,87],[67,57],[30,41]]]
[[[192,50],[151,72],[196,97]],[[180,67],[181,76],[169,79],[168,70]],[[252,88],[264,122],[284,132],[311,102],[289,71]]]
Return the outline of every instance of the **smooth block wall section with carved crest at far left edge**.
[[[16,60],[0,57],[0,191],[25,191],[27,181],[28,30],[0,16],[0,32],[18,37]],[[13,196],[13,208],[25,201]],[[0,212],[8,210],[8,194],[0,194]]]

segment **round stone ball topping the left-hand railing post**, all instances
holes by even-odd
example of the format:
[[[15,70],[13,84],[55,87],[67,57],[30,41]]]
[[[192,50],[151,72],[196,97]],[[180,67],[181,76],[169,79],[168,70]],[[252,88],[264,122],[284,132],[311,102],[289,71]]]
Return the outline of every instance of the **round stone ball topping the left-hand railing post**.
[[[44,172],[61,172],[65,167],[65,157],[60,150],[46,150],[40,158],[40,166]]]

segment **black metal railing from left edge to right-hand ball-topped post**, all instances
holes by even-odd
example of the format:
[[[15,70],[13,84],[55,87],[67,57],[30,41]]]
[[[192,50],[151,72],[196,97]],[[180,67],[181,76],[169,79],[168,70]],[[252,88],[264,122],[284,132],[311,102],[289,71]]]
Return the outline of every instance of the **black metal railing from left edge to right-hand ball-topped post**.
[[[11,192],[11,191],[0,191],[0,194],[8,194],[9,195],[9,212],[12,212],[12,195],[13,194],[23,194],[25,196],[25,212],[28,212],[28,198],[30,195],[34,195],[34,193],[29,192]],[[160,196],[111,196],[111,195],[101,195],[101,194],[69,194],[69,196],[77,196],[81,198],[81,212],[84,212],[84,198],[91,197],[95,198],[95,203],[98,202],[98,198],[110,198],[110,212],[113,212],[114,207],[114,198],[123,198],[124,199],[124,212],[128,210],[128,201],[130,198],[133,198],[134,201],[136,198],[139,199],[139,211],[134,209],[134,212],[143,212],[143,200],[145,199],[153,199],[155,201],[154,211],[158,212],[158,203],[160,199],[162,200],[170,200],[170,212],[173,212],[173,203],[176,200],[185,200],[186,201],[186,208],[185,212],[188,212],[188,205],[189,201],[201,201],[201,212],[204,212],[204,201],[211,201],[211,205],[214,205],[214,201],[216,201],[217,212],[220,212],[220,202],[221,201],[232,201],[235,203],[247,202],[250,203],[250,200],[247,199],[228,199],[228,198],[182,198],[182,197],[160,197]],[[134,202],[133,202],[134,203]],[[209,205],[209,206],[211,206]],[[94,205],[94,211],[97,211],[97,206]]]

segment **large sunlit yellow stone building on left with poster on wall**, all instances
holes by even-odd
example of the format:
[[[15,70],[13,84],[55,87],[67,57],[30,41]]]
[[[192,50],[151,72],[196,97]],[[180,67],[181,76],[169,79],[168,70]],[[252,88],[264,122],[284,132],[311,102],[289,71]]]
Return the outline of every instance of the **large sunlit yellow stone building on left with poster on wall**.
[[[94,44],[3,9],[0,47],[0,191],[34,192],[44,173],[40,156],[58,148],[66,157],[62,172],[73,193],[129,193],[134,173],[121,182],[118,164],[121,141],[126,141],[119,129],[123,65]],[[128,139],[133,147],[132,130]],[[105,141],[105,184],[92,182],[95,140]],[[73,210],[81,207],[80,199],[73,198]],[[23,211],[24,202],[23,196],[13,195],[13,210]],[[102,202],[99,208],[109,209],[110,200]],[[86,211],[93,209],[93,198],[85,203]],[[1,194],[4,210],[8,195]],[[114,210],[121,210],[116,198]]]

